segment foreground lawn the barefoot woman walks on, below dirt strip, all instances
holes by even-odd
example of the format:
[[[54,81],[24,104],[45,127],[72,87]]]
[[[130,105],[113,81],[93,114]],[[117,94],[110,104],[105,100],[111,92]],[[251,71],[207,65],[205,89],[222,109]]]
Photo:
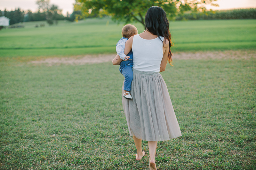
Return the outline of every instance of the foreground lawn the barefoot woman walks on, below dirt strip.
[[[161,73],[182,137],[158,142],[159,170],[256,168],[254,59],[176,60]],[[148,169],[111,63],[0,63],[0,169]],[[56,134],[55,137],[52,135]]]

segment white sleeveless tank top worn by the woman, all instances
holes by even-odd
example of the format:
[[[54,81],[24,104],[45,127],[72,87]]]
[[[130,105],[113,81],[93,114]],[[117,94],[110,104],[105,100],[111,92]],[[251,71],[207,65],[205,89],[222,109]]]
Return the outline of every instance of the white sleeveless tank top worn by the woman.
[[[164,37],[161,37],[164,41]],[[163,58],[163,42],[158,37],[146,40],[139,34],[134,35],[132,41],[133,67],[140,71],[159,72]]]

